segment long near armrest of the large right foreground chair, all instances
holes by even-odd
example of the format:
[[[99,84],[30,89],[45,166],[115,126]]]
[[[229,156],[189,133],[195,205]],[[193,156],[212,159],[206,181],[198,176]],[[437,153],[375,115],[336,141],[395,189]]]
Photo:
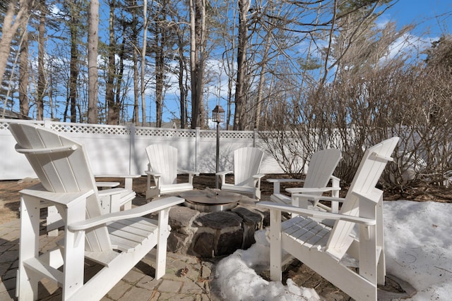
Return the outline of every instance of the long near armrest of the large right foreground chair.
[[[290,213],[295,213],[302,216],[311,217],[314,219],[333,219],[341,221],[350,221],[352,223],[359,223],[366,226],[373,226],[376,224],[375,219],[367,219],[360,216],[349,216],[345,214],[337,214],[331,212],[323,212],[318,210],[303,209],[299,207],[294,207],[287,204],[279,204],[274,202],[258,202],[258,207],[263,207],[270,210],[286,211]]]

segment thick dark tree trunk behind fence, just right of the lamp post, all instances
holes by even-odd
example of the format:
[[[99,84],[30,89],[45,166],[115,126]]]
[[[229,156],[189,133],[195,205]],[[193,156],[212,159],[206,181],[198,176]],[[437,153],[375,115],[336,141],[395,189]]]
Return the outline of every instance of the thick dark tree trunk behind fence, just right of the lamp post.
[[[239,45],[237,47],[234,130],[244,129],[246,50],[248,48],[248,11],[250,5],[249,0],[239,0]]]

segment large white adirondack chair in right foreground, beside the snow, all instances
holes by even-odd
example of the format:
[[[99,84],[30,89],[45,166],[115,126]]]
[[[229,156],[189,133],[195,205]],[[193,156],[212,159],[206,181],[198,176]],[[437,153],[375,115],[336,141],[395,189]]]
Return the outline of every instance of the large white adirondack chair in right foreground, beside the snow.
[[[261,202],[270,209],[270,278],[281,281],[283,253],[301,262],[355,300],[376,300],[377,284],[384,284],[383,192],[379,180],[398,137],[385,140],[364,153],[338,214]],[[323,199],[317,195],[299,195]],[[326,197],[331,199],[332,197]],[[299,214],[281,222],[281,211]],[[332,228],[312,218],[335,220]],[[353,233],[357,226],[357,235]],[[284,254],[284,256],[286,256]],[[357,263],[358,269],[350,268]]]

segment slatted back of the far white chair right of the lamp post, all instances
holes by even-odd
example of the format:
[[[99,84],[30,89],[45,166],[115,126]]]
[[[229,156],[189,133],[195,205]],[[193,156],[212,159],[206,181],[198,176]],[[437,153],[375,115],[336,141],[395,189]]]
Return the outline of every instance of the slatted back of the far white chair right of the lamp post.
[[[253,186],[252,176],[259,173],[263,152],[256,147],[234,150],[234,185]]]

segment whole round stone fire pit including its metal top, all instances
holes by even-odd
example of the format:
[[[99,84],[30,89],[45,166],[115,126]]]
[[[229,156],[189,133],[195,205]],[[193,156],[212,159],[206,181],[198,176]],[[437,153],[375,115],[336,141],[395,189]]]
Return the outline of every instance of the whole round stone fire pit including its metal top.
[[[251,247],[254,233],[269,225],[270,212],[234,192],[206,189],[180,192],[186,202],[169,211],[169,252],[213,258]]]

